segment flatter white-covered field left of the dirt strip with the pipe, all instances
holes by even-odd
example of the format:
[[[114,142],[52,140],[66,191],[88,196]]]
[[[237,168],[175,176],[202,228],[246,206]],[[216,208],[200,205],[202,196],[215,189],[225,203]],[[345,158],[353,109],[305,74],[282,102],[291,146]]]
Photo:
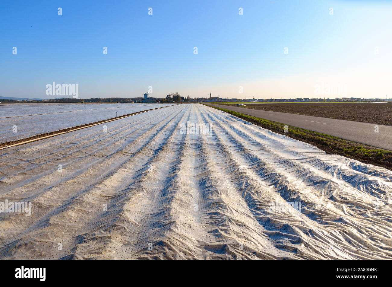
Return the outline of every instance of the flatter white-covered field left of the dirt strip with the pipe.
[[[0,143],[171,104],[0,104]]]

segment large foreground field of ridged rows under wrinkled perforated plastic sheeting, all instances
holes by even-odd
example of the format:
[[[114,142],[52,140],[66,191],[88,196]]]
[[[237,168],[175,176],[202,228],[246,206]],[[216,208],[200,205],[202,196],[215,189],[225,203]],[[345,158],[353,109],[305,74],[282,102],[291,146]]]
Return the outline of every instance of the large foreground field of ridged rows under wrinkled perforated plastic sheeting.
[[[0,202],[31,203],[0,259],[392,256],[387,169],[201,104],[105,125],[0,151]]]

